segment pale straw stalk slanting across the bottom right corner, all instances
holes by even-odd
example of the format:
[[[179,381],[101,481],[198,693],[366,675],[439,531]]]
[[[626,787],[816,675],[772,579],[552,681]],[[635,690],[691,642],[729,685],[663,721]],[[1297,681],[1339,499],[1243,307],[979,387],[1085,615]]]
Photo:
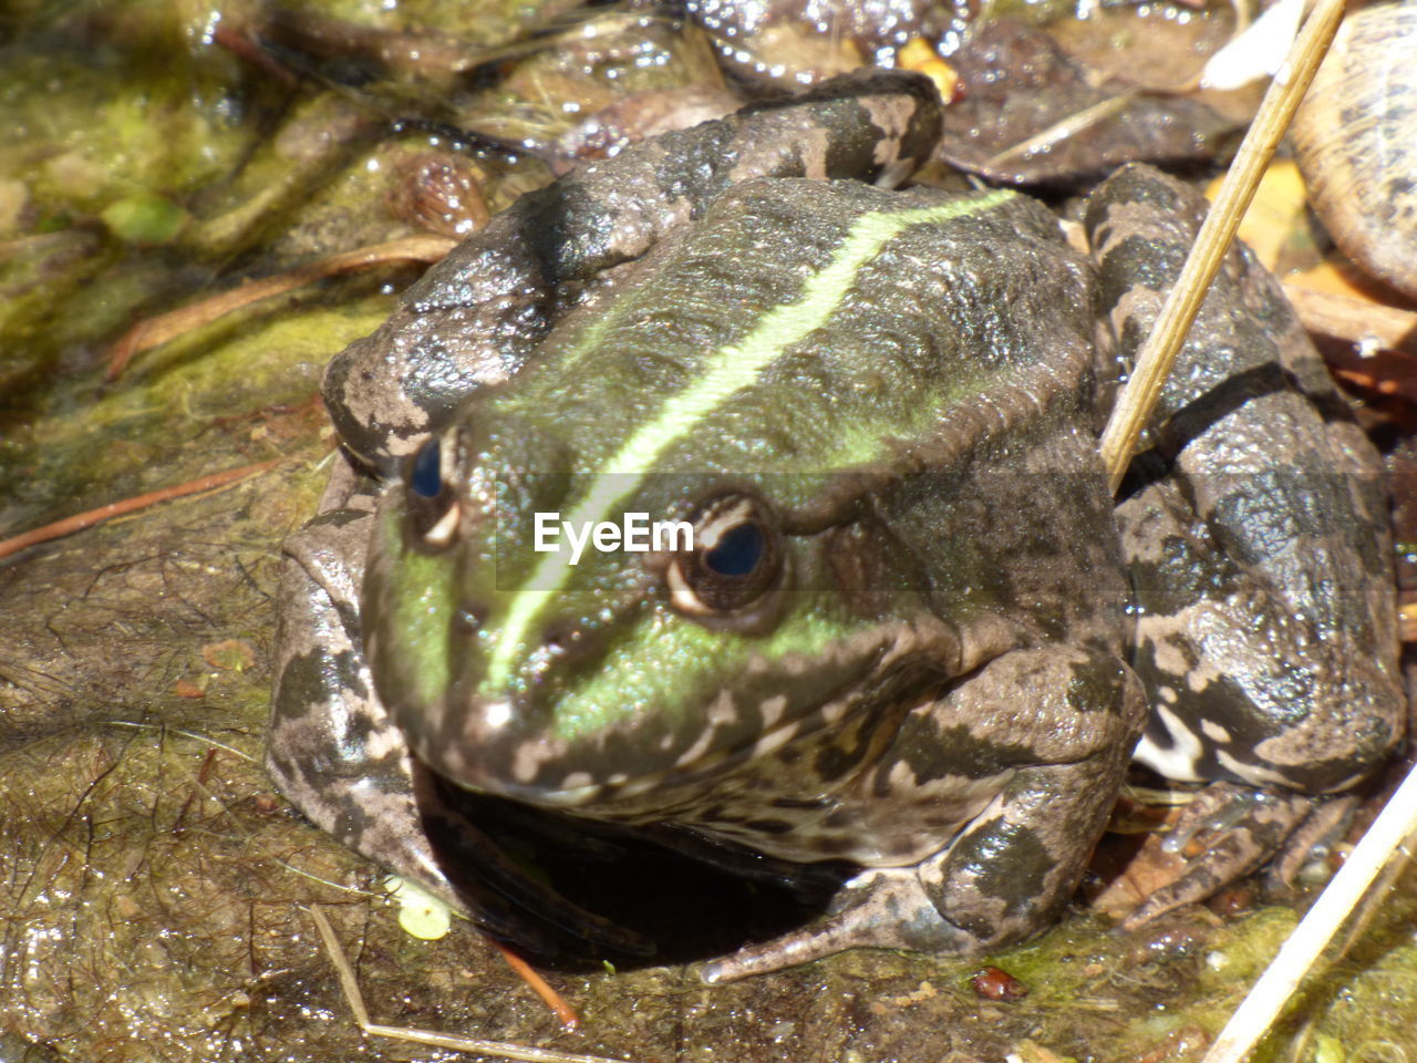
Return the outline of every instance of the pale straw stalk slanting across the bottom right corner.
[[[1323,889],[1260,981],[1230,1016],[1202,1063],[1240,1063],[1270,1029],[1280,1009],[1318,960],[1323,945],[1357,904],[1383,865],[1417,831],[1417,767],[1393,794],[1338,874]]]

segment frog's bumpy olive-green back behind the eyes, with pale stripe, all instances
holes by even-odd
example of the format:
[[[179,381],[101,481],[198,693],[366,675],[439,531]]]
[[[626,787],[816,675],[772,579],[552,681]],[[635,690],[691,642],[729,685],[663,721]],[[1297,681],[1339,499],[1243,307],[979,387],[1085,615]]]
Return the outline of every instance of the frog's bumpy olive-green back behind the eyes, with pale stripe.
[[[1090,266],[1012,193],[748,181],[639,266],[495,404],[578,471],[860,466],[1012,391],[1090,417]]]

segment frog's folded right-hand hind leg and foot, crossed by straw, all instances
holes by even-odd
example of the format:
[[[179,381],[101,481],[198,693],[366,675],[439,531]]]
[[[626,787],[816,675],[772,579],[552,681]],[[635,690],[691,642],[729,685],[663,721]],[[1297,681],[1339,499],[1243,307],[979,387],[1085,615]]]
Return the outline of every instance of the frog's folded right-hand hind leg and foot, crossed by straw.
[[[1145,167],[1094,193],[1088,237],[1125,363],[1204,210]],[[1131,924],[1209,896],[1325,819],[1322,795],[1383,763],[1406,717],[1380,463],[1247,248],[1226,257],[1156,424],[1117,509],[1139,607],[1132,663],[1152,699],[1136,758],[1214,781],[1178,835],[1238,823]],[[1253,788],[1278,792],[1254,804]]]

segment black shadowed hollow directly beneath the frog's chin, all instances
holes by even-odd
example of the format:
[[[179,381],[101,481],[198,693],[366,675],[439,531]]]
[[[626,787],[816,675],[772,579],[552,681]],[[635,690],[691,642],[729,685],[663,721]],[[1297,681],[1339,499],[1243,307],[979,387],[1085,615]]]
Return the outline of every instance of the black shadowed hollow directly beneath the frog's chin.
[[[762,937],[762,921],[781,921],[785,933],[820,914],[852,870],[472,794],[427,771],[415,772],[415,788],[438,866],[478,921],[547,958],[574,962],[584,944],[568,952],[572,941],[629,962],[721,955],[724,934]],[[686,927],[686,903],[700,916],[710,913],[708,920]],[[751,928],[744,933],[740,924]],[[708,947],[700,928],[710,931]]]

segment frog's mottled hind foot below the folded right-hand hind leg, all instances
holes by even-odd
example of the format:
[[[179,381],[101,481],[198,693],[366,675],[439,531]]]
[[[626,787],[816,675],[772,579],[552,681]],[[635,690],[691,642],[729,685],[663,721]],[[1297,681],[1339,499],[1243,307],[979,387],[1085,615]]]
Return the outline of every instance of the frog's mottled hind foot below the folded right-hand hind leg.
[[[1186,806],[1162,842],[1170,852],[1196,845],[1202,852],[1187,857],[1180,877],[1155,890],[1122,920],[1122,928],[1135,930],[1244,877],[1281,850],[1316,804],[1304,794],[1212,782]]]

